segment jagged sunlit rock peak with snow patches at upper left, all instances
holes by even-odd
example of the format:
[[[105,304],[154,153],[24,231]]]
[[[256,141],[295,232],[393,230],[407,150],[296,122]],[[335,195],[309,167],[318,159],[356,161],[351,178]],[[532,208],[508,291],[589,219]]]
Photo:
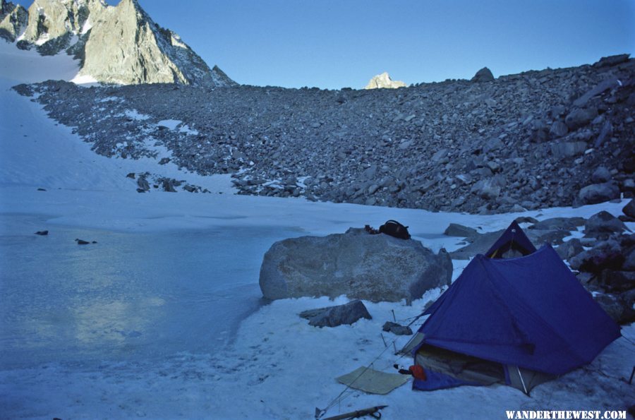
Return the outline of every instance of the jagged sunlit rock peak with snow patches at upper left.
[[[66,52],[80,60],[87,80],[134,85],[180,83],[236,85],[211,68],[136,0],[109,6],[102,0],[35,0],[28,11],[0,0],[0,37],[42,55]]]

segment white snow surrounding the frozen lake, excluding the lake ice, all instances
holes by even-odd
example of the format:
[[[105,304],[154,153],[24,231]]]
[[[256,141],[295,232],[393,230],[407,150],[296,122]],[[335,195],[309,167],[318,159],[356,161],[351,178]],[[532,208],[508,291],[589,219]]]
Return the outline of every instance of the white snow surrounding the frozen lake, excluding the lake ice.
[[[202,177],[179,171],[171,163],[158,165],[150,159],[96,155],[71,128],[56,125],[37,104],[9,90],[16,83],[44,77],[70,80],[77,73],[77,65],[68,57],[40,57],[35,52],[11,48],[0,42],[0,112],[4,116],[0,125],[0,215],[5,220],[26,215],[40,217],[47,227],[60,229],[150,235],[171,232],[179,238],[185,232],[210,229],[231,234],[236,227],[324,235],[364,224],[377,227],[385,220],[397,219],[409,225],[413,239],[425,246],[452,251],[461,239],[442,235],[450,222],[488,232],[507,227],[520,215],[538,219],[589,217],[600,210],[617,215],[624,206],[624,202],[603,203],[577,209],[476,216],[234,196],[226,176]],[[187,179],[210,189],[212,194],[136,193],[134,181],[126,174],[146,171]],[[0,241],[6,246],[11,246],[11,236],[32,236],[31,231],[0,228]],[[236,241],[225,254],[230,257],[224,258],[241,263],[249,245],[253,244]],[[191,252],[200,249],[192,246]],[[250,259],[257,264],[258,258]],[[453,278],[466,263],[454,261]],[[250,267],[252,272],[257,268]],[[6,282],[8,275],[0,267],[0,291]],[[258,278],[238,275],[232,282],[255,285]],[[315,407],[325,408],[344,390],[344,385],[335,380],[337,376],[371,362],[374,368],[389,372],[394,372],[394,363],[408,366],[409,359],[393,354],[394,336],[383,333],[389,346],[386,349],[381,327],[393,320],[392,311],[398,322],[409,322],[440,293],[438,289],[430,291],[412,306],[365,302],[372,320],[322,329],[311,327],[298,313],[343,304],[348,301],[346,297],[334,301],[274,301],[244,319],[232,332],[233,340],[218,337],[226,340],[224,347],[175,352],[159,359],[104,356],[96,362],[71,352],[63,361],[33,361],[19,368],[0,361],[0,418],[311,419]],[[241,305],[240,299],[235,304]],[[633,365],[634,326],[624,328],[622,334],[624,337],[610,344],[591,365],[538,386],[531,397],[504,386],[413,392],[406,384],[385,396],[346,392],[346,398],[327,416],[379,404],[389,406],[383,410],[384,419],[502,419],[509,409],[624,409],[634,400],[632,385],[624,381]],[[199,338],[203,340],[189,340]],[[407,340],[400,337],[395,343],[397,349]],[[94,350],[99,352],[99,348]]]

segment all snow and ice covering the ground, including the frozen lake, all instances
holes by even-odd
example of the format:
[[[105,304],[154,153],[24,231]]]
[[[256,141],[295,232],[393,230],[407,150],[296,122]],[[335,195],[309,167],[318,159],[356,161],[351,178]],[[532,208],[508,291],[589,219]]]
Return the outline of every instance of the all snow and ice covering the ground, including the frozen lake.
[[[337,376],[371,362],[388,372],[394,363],[408,366],[392,350],[407,337],[392,347],[384,333],[386,349],[381,326],[392,311],[408,322],[441,291],[412,306],[367,302],[372,320],[313,328],[299,312],[346,297],[264,304],[258,270],[274,241],[397,219],[425,246],[452,250],[459,239],[442,235],[450,222],[487,232],[521,215],[236,196],[227,176],[102,157],[9,89],[76,73],[68,57],[43,58],[0,42],[0,418],[313,418],[315,407],[344,390]],[[126,174],[145,171],[212,193],[140,194]],[[617,215],[623,205],[522,215]],[[50,234],[35,236],[38,230]],[[97,244],[79,247],[75,238]],[[454,263],[456,278],[466,262]],[[385,396],[347,391],[327,416],[386,404],[384,419],[624,409],[635,400],[622,379],[634,364],[635,328],[622,334],[590,366],[538,386],[532,397],[504,386],[414,392],[406,384]]]

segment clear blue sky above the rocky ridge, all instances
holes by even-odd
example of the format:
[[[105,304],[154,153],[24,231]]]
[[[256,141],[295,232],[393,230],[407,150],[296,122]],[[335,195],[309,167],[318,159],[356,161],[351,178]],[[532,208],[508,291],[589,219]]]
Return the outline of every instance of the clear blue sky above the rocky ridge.
[[[210,67],[250,85],[363,88],[383,71],[418,83],[635,55],[635,0],[139,3]]]

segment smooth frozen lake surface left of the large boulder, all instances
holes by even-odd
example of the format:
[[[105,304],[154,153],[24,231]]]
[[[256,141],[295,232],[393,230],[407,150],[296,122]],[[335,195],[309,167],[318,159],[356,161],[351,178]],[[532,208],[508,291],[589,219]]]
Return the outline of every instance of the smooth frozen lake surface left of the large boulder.
[[[246,227],[122,233],[25,215],[1,215],[0,229],[2,369],[213,353],[262,305],[264,253],[301,234]],[[40,230],[49,235],[34,234]]]

